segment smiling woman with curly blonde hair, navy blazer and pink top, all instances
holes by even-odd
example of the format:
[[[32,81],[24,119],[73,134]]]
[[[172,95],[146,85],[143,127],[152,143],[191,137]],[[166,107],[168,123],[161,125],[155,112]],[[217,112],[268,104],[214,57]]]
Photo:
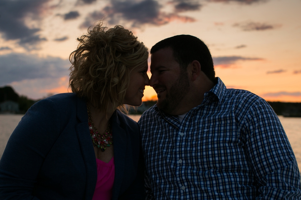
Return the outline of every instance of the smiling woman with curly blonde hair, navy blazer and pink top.
[[[34,104],[7,143],[2,200],[144,199],[139,128],[119,110],[142,103],[147,48],[122,26],[102,23],[77,40],[73,93]]]

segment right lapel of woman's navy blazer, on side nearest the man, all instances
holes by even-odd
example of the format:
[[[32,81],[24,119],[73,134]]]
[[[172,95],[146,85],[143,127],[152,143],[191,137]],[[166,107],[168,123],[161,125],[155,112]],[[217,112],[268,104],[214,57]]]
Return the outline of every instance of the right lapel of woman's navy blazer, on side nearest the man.
[[[125,156],[127,150],[127,134],[126,131],[120,127],[117,111],[111,117],[111,125],[113,132],[114,144],[114,163],[115,163],[115,178],[113,185],[112,199],[118,199],[121,183],[123,181]]]

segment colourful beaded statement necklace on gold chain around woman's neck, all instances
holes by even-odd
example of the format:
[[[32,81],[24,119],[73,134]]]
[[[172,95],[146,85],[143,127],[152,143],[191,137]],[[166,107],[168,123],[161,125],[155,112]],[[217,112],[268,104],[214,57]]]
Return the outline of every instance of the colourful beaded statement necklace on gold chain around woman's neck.
[[[89,130],[90,130],[90,135],[91,135],[93,145],[97,146],[98,148],[101,149],[102,152],[104,152],[104,150],[106,150],[106,146],[110,147],[110,145],[113,145],[111,125],[109,123],[106,131],[103,134],[100,134],[92,121],[92,115],[91,115],[90,106],[88,102],[87,102],[87,110],[88,110],[88,118],[89,118],[89,123],[88,123]],[[95,132],[93,131],[93,129]]]

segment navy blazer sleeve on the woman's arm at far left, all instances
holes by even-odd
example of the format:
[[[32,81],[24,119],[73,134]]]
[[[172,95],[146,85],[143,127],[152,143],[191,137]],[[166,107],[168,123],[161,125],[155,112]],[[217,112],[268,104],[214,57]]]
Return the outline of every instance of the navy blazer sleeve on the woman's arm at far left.
[[[23,116],[0,160],[0,199],[38,199],[32,192],[43,161],[59,136],[59,116],[53,101],[46,99]]]

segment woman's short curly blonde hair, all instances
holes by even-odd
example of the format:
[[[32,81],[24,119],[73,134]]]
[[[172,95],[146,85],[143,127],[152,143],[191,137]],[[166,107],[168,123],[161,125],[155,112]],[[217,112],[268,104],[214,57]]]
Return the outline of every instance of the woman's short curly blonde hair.
[[[88,34],[77,38],[79,44],[69,60],[69,87],[80,97],[104,112],[123,105],[130,72],[148,59],[147,47],[123,26],[102,26],[100,22]]]

